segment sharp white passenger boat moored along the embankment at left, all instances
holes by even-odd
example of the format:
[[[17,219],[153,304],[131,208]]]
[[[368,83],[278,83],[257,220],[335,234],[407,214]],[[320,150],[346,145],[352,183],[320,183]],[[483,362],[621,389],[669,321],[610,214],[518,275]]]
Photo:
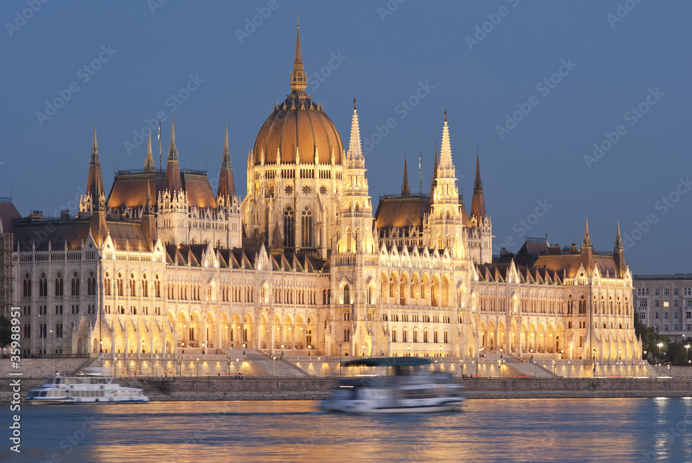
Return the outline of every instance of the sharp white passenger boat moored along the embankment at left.
[[[38,388],[29,390],[26,401],[54,403],[148,402],[141,389],[114,383],[111,376],[52,376]]]

